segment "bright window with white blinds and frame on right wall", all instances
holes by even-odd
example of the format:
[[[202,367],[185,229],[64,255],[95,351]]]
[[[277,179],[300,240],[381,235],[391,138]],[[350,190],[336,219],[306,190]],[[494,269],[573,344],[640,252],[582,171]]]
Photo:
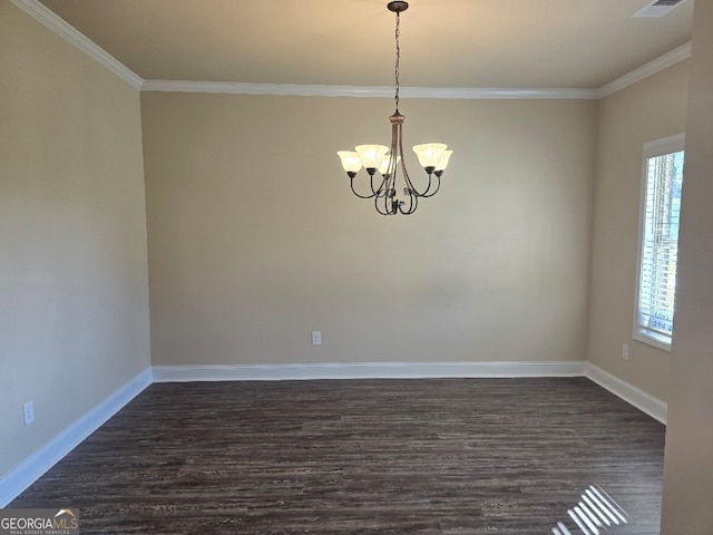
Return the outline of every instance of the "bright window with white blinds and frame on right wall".
[[[634,338],[671,350],[676,295],[683,134],[644,145]]]

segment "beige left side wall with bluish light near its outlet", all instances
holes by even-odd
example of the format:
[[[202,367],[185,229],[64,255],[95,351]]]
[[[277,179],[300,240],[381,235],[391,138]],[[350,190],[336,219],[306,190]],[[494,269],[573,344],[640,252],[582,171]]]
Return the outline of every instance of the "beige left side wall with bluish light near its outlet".
[[[138,91],[7,0],[0,72],[2,477],[145,370],[149,333]]]

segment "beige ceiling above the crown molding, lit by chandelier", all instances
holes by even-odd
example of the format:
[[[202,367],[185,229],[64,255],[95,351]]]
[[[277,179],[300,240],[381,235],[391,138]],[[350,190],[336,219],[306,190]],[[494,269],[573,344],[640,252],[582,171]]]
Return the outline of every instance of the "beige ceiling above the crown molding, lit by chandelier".
[[[385,0],[41,0],[145,80],[389,86]],[[402,86],[599,88],[691,39],[694,0],[410,0]]]

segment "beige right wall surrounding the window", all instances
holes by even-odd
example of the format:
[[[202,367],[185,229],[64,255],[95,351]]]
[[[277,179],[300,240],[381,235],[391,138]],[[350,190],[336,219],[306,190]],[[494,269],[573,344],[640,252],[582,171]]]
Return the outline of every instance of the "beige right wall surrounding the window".
[[[600,103],[592,257],[592,363],[667,399],[668,352],[632,339],[645,142],[685,130],[688,61]],[[622,346],[629,346],[629,360]]]

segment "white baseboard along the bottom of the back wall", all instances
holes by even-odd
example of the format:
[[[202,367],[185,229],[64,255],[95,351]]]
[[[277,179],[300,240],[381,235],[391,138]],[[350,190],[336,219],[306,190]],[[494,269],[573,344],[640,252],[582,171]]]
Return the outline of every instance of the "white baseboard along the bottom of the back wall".
[[[584,376],[586,362],[355,362],[319,364],[155,366],[154,382],[430,379]]]

